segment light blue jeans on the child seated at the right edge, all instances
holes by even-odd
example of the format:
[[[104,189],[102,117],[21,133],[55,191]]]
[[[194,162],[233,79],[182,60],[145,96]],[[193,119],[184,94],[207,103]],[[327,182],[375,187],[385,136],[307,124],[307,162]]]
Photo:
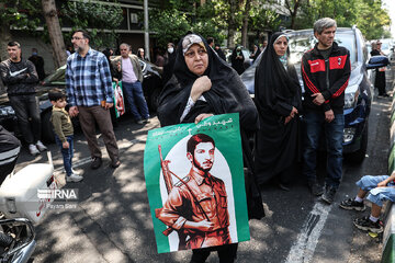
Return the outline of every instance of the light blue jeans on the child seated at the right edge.
[[[377,206],[383,206],[383,201],[395,202],[395,183],[391,181],[388,187],[377,187],[380,182],[383,182],[390,178],[388,175],[364,175],[356,184],[363,191],[369,192],[366,199],[376,204]]]

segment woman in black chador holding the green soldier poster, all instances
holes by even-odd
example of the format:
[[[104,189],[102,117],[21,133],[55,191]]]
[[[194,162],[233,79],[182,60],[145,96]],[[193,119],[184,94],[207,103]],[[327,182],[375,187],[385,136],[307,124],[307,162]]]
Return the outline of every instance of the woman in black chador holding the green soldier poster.
[[[184,36],[177,47],[173,76],[159,99],[158,118],[162,126],[199,123],[213,114],[239,113],[245,164],[252,169],[247,134],[258,128],[257,108],[240,77],[216,56],[206,41],[195,34]],[[250,218],[264,216],[253,173],[246,182]],[[191,262],[205,262],[213,250],[221,262],[234,262],[237,244],[193,250]]]

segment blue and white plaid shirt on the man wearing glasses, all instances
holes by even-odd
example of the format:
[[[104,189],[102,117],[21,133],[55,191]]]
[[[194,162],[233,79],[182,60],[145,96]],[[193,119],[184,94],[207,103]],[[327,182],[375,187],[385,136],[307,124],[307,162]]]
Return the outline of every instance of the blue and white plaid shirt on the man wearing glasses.
[[[92,48],[84,57],[74,53],[67,58],[66,92],[70,106],[113,103],[111,72],[106,57]]]

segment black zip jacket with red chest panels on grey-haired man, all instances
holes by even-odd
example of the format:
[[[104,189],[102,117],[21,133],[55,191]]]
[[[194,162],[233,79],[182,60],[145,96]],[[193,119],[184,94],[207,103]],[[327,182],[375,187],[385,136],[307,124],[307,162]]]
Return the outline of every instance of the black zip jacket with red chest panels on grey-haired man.
[[[325,60],[319,54],[317,45],[306,52],[302,58],[302,76],[305,88],[303,106],[305,111],[326,112],[332,110],[335,114],[343,112],[345,90],[348,85],[351,62],[350,52],[334,42],[329,59]],[[323,105],[313,103],[314,93],[321,93],[325,98]]]

